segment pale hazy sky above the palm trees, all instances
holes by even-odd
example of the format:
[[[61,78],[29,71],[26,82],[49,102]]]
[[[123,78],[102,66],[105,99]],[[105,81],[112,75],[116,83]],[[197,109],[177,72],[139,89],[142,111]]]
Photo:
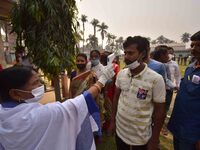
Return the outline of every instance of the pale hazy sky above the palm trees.
[[[200,30],[200,0],[78,0],[77,6],[79,16],[88,16],[86,35],[93,34],[89,24],[93,18],[105,22],[109,33],[124,38],[164,35],[180,42],[183,33]]]

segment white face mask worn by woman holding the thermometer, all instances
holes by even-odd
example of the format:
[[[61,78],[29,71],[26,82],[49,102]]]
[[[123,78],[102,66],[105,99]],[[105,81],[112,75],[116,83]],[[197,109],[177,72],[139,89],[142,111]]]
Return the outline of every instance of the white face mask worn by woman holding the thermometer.
[[[27,99],[25,100],[25,102],[27,103],[35,103],[38,102],[39,100],[42,99],[43,95],[44,95],[44,85],[35,88],[31,91],[32,95],[34,96],[33,98]]]

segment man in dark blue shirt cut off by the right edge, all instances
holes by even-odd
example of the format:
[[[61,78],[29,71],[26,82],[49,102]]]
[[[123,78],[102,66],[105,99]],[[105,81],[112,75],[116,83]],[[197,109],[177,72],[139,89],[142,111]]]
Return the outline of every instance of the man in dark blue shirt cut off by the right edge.
[[[200,150],[200,31],[191,42],[196,61],[185,70],[168,124],[174,150]]]

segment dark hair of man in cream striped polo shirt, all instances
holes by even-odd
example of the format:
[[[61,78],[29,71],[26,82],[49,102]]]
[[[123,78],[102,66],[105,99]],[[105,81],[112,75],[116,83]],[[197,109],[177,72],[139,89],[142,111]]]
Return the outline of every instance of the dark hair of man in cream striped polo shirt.
[[[137,50],[140,52],[145,53],[145,57],[148,57],[149,51],[150,51],[150,44],[147,38],[142,36],[129,36],[126,41],[123,43],[123,48],[126,49],[127,47],[136,44]],[[143,58],[145,59],[145,58]]]

